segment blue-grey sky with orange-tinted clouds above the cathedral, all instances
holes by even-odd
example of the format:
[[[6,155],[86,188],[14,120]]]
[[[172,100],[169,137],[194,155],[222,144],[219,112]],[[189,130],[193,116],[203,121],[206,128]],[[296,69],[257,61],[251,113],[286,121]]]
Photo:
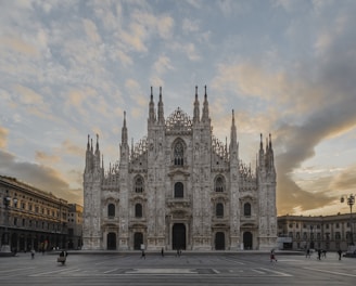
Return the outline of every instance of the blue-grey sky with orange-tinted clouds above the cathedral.
[[[356,190],[356,1],[0,0],[0,174],[82,204],[88,134],[105,168],[207,90],[213,133],[255,166],[271,133],[278,214],[349,212]],[[202,104],[201,104],[202,106]]]

